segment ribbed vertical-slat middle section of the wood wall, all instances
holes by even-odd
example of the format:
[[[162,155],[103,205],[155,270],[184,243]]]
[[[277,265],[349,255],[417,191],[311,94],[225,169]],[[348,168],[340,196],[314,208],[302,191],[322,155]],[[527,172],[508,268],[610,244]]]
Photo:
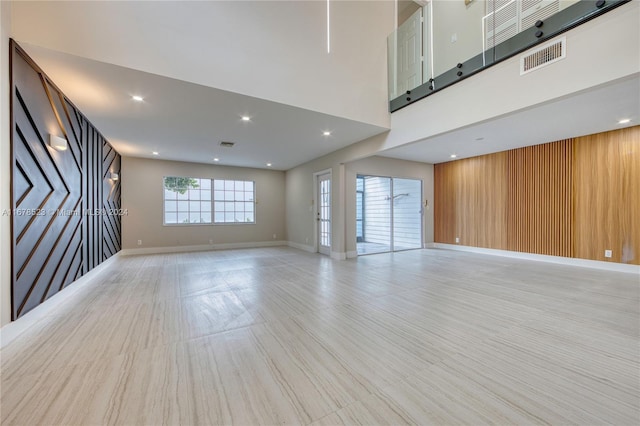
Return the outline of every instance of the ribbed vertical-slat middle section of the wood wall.
[[[507,156],[507,249],[572,257],[572,141],[514,149]]]

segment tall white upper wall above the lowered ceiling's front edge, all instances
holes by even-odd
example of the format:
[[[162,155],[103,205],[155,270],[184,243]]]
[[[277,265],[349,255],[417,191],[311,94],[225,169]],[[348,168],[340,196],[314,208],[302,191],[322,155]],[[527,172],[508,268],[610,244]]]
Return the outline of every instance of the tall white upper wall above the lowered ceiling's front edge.
[[[34,1],[13,11],[18,41],[388,127],[393,1],[332,1],[330,16],[327,54],[325,1]]]

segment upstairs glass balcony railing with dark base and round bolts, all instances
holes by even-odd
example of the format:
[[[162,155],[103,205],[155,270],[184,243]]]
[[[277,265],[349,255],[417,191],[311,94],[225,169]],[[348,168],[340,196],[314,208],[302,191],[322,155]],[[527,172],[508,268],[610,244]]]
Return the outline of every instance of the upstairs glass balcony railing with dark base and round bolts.
[[[564,57],[545,41],[630,0],[399,1],[387,39],[391,112],[540,44],[532,63]],[[521,61],[524,62],[524,61]]]

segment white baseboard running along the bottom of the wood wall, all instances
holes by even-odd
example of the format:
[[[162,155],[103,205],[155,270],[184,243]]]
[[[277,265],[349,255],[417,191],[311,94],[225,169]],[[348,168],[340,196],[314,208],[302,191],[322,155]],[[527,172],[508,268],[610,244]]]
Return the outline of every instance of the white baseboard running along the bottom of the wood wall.
[[[625,272],[640,275],[640,265],[625,263],[603,262],[600,260],[577,259],[573,257],[549,256],[545,254],[523,253],[519,251],[496,250],[482,247],[460,246],[456,244],[432,243],[438,249],[467,251],[471,253],[488,254],[492,256],[511,257],[514,259],[535,260],[540,262],[558,263],[561,265],[581,266],[583,268],[603,269],[606,271]]]

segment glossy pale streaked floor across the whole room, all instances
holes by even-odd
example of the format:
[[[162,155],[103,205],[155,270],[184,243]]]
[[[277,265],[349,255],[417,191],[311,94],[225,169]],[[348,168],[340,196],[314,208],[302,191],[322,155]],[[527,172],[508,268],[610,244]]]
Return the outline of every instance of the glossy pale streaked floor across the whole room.
[[[119,257],[1,352],[1,423],[640,423],[639,277],[443,250]]]

